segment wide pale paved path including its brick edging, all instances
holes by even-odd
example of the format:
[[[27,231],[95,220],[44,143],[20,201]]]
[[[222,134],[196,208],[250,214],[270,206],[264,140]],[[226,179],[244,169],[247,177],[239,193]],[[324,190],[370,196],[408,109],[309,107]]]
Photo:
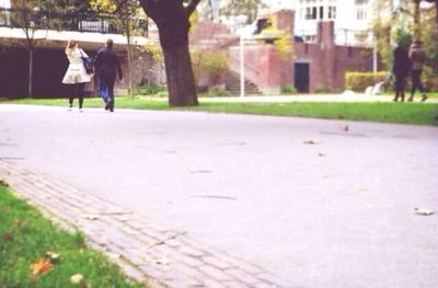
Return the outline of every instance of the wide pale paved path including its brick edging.
[[[437,287],[438,129],[345,125],[0,105],[0,176],[172,287]]]

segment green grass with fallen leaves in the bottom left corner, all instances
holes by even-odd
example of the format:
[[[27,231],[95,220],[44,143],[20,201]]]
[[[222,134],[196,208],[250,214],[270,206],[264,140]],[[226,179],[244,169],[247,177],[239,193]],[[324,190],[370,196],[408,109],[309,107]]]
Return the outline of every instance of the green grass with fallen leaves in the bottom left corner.
[[[127,280],[102,254],[85,247],[82,234],[70,234],[0,185],[0,287],[141,287]],[[32,277],[30,265],[47,251],[60,254],[53,269]],[[83,275],[82,285],[70,277]]]

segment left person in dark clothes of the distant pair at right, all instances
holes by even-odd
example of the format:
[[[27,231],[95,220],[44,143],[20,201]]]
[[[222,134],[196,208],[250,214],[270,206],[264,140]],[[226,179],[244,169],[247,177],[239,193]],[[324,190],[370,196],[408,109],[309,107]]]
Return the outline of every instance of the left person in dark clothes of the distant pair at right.
[[[399,43],[399,45],[393,50],[393,65],[392,65],[392,73],[395,77],[395,96],[394,101],[404,101],[404,84],[405,79],[411,70],[411,61],[407,56],[407,50]]]

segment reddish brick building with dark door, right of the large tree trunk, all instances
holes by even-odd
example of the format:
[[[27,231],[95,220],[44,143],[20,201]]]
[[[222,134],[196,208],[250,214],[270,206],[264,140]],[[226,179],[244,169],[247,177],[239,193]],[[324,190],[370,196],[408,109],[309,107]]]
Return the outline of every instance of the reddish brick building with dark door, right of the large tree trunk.
[[[278,30],[293,31],[293,11],[278,11],[272,19]],[[316,38],[312,43],[290,36],[293,60],[281,60],[272,44],[253,41],[245,45],[245,77],[257,83],[264,93],[278,93],[285,85],[292,85],[299,92],[343,91],[346,71],[372,69],[369,48],[335,43],[333,21],[318,23]],[[230,47],[229,51],[230,69],[239,72],[240,47]]]

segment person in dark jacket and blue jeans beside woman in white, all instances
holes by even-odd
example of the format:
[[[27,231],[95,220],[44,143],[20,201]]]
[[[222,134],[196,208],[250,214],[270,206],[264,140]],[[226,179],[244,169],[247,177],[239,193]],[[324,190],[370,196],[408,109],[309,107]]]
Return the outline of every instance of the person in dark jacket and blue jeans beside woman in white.
[[[107,39],[105,47],[97,51],[94,67],[99,76],[99,93],[105,102],[105,110],[114,112],[114,84],[116,76],[123,79],[117,54],[113,51],[113,39]]]

